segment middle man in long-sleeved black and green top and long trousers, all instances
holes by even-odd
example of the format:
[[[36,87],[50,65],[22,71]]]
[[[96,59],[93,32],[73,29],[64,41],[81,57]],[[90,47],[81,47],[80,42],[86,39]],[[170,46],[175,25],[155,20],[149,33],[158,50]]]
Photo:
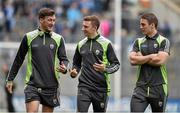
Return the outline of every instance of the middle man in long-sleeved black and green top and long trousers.
[[[106,112],[110,92],[109,75],[119,69],[119,61],[111,42],[97,31],[97,16],[86,16],[82,30],[86,36],[77,44],[73,58],[71,77],[79,76],[77,112],[88,112],[90,104],[94,112]]]

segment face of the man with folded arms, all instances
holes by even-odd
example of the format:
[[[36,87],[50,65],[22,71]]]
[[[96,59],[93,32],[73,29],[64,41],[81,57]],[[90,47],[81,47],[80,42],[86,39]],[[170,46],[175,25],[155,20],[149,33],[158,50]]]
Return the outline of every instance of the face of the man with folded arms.
[[[151,34],[153,32],[153,24],[149,24],[146,19],[141,19],[140,29],[144,35]]]

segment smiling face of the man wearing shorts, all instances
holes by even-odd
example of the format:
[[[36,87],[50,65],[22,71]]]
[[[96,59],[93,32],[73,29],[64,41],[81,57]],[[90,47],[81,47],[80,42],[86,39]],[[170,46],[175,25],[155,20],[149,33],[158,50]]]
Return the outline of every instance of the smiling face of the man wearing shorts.
[[[53,31],[55,21],[56,21],[55,15],[46,16],[46,17],[40,19],[40,24],[44,31],[51,32],[51,31]]]

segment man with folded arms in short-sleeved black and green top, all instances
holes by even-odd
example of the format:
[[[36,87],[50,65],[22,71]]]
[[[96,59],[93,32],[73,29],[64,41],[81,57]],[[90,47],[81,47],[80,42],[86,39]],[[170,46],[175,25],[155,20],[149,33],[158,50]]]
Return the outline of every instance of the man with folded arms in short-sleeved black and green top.
[[[158,20],[153,13],[143,14],[140,29],[145,35],[134,42],[130,62],[138,65],[138,79],[131,99],[131,112],[144,112],[150,104],[152,112],[164,112],[167,102],[166,62],[170,42],[157,31]]]

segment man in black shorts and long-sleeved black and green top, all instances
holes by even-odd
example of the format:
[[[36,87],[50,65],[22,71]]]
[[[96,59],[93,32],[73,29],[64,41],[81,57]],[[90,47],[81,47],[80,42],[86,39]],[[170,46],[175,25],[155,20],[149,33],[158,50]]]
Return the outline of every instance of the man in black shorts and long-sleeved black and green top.
[[[12,92],[13,80],[28,53],[25,102],[27,112],[53,112],[59,105],[58,71],[67,72],[63,37],[53,32],[55,12],[50,8],[39,11],[39,28],[25,34],[7,77],[7,89]],[[58,61],[59,60],[59,61]]]

